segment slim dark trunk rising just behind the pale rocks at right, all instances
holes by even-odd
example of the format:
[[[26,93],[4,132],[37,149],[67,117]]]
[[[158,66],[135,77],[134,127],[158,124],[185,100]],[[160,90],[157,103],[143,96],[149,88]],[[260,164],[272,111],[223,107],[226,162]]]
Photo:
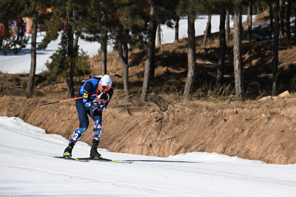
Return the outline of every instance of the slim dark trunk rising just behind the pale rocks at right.
[[[279,1],[274,0],[274,59],[272,72],[272,95],[276,95],[276,77],[279,64]]]

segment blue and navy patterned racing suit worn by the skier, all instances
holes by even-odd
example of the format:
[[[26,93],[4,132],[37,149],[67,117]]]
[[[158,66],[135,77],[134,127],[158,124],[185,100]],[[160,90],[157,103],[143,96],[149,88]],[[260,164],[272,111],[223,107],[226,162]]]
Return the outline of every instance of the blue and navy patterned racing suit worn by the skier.
[[[70,140],[71,143],[76,143],[82,133],[86,131],[89,126],[89,118],[87,114],[94,120],[94,132],[93,139],[99,140],[100,135],[102,133],[102,112],[107,108],[108,103],[112,102],[111,97],[113,95],[113,89],[110,88],[107,91],[109,94],[109,100],[107,102],[101,101],[100,103],[94,103],[96,99],[97,86],[99,79],[89,79],[87,80],[83,86],[80,88],[76,98],[82,97],[80,99],[76,99],[76,109],[79,118],[79,127],[74,131],[73,136]],[[94,96],[92,96],[94,95]]]

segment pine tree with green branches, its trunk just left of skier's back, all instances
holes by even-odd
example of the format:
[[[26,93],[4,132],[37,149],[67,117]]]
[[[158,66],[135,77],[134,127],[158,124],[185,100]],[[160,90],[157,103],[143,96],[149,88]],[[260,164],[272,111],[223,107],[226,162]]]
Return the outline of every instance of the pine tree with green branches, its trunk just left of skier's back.
[[[78,48],[74,48],[73,36],[75,30],[81,32],[82,26],[79,21],[85,17],[85,6],[87,4],[78,0],[54,1],[49,3],[54,5],[54,10],[44,25],[44,28],[47,28],[46,36],[42,40],[43,43],[38,45],[38,48],[46,48],[52,40],[57,39],[59,32],[61,32],[59,50],[52,56],[52,59],[56,58],[57,61],[52,61],[47,66],[51,65],[48,67],[49,71],[55,71],[51,74],[52,77],[55,74],[60,74],[61,71],[66,72],[67,96],[73,97],[73,62],[78,56],[78,51],[75,51]],[[49,78],[51,77],[49,76]]]

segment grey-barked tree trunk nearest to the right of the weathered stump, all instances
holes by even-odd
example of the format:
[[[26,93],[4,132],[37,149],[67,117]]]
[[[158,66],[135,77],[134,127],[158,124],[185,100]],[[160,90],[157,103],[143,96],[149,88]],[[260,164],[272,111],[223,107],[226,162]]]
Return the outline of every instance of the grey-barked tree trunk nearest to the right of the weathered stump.
[[[194,14],[188,13],[188,72],[184,87],[183,100],[187,101],[192,95],[193,83],[195,78],[195,29],[194,29]]]

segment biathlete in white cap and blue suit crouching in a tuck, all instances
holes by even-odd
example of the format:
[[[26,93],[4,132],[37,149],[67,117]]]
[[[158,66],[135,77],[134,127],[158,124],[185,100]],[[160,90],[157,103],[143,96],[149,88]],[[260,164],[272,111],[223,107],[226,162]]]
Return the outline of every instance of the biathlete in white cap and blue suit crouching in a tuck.
[[[101,156],[97,151],[97,147],[102,133],[102,112],[107,108],[108,103],[112,102],[112,100],[110,100],[113,95],[113,89],[111,87],[112,79],[109,75],[104,75],[102,78],[98,77],[98,75],[94,75],[89,78],[90,79],[80,88],[76,96],[76,98],[82,97],[81,99],[77,99],[75,103],[79,118],[79,127],[74,131],[64,151],[65,157],[72,157],[74,145],[80,139],[82,133],[88,128],[89,118],[87,115],[94,120],[93,140],[89,156]]]

